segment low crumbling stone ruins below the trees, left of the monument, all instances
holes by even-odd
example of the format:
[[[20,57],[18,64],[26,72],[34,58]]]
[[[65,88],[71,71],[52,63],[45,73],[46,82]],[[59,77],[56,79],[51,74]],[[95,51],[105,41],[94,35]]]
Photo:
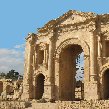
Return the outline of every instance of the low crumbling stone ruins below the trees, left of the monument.
[[[0,100],[21,99],[22,92],[22,80],[0,79]]]

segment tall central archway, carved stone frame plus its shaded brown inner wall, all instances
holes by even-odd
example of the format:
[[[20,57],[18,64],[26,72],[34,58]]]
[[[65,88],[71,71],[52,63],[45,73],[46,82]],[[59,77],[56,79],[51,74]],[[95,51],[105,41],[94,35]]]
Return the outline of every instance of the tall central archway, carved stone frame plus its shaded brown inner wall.
[[[83,40],[79,40],[78,38],[71,38],[71,39],[62,41],[60,44],[57,45],[56,53],[55,53],[55,85],[56,85],[55,99],[56,100],[63,100],[63,101],[75,100],[75,91],[74,91],[75,89],[74,88],[67,89],[67,87],[68,87],[67,85],[70,84],[69,87],[72,87],[72,85],[73,85],[73,87],[75,87],[75,70],[76,70],[76,68],[73,66],[76,66],[76,64],[74,64],[74,63],[76,63],[75,62],[76,57],[78,57],[79,53],[81,53],[81,52],[83,52],[83,54],[84,54],[84,56],[83,56],[83,58],[84,58],[84,81],[89,82],[90,81],[90,49],[89,49],[89,46],[87,45],[87,43]],[[74,56],[75,56],[75,58],[74,58]],[[62,57],[64,57],[64,58],[62,58]],[[67,58],[67,60],[66,60],[66,62],[64,62],[64,59],[66,59],[66,58]],[[71,60],[73,60],[73,61],[71,61]],[[65,73],[65,75],[63,76],[61,69],[63,69],[63,64],[65,66],[66,65],[65,63],[67,63],[67,61],[69,63],[69,66],[67,67],[68,71],[62,70]],[[71,65],[72,63],[74,65]],[[74,71],[73,71],[73,69],[74,69]],[[70,72],[70,70],[72,70],[72,72]],[[68,74],[67,72],[69,72],[69,76],[67,75]],[[63,78],[65,78],[65,79],[63,79]],[[62,84],[64,84],[64,86]],[[84,82],[84,86],[85,85],[87,85],[86,82]],[[64,89],[69,90],[69,91],[63,92],[62,90],[64,90]],[[72,90],[72,92],[71,92],[71,90]],[[84,87],[84,91],[82,91],[82,93],[83,93],[82,95],[84,95],[84,97],[82,97],[82,99],[86,99],[87,94],[88,94],[86,92],[87,92],[87,87]],[[66,97],[69,95],[70,95],[70,97]]]

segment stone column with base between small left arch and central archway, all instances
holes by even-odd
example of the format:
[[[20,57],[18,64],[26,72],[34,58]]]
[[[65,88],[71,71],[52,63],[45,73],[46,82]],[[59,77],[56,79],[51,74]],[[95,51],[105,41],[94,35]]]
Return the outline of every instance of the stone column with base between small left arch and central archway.
[[[47,52],[47,51],[46,51]],[[49,43],[49,56],[48,56],[48,81],[45,85],[46,92],[44,97],[47,99],[53,99],[54,97],[54,42],[53,37]]]

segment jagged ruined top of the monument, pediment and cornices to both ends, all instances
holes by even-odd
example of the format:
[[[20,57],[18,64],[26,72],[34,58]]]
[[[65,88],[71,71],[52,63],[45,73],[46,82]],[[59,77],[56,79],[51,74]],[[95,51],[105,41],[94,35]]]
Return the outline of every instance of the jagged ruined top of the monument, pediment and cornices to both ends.
[[[78,27],[90,22],[93,22],[91,25],[95,29],[100,28],[100,25],[109,22],[109,14],[98,15],[92,12],[69,10],[57,19],[49,21],[42,28],[38,28],[38,33],[29,33],[26,40],[36,40],[36,38],[40,36],[48,36],[48,34],[52,34],[56,28],[64,28],[67,26]]]

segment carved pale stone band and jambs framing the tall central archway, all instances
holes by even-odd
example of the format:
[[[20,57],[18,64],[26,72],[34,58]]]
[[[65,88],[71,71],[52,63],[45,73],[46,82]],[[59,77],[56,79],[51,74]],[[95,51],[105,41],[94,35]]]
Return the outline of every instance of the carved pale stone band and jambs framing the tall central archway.
[[[64,42],[62,42],[56,50],[55,54],[55,85],[56,85],[56,92],[55,96],[56,99],[59,100],[59,57],[60,53],[62,52],[62,49],[65,48],[68,45],[79,45],[83,49],[84,52],[84,81],[89,81],[90,76],[90,50],[88,45],[84,41],[80,41],[79,39],[67,39]],[[84,83],[85,84],[85,83]],[[85,89],[84,89],[85,91]],[[85,91],[86,92],[86,91]]]

